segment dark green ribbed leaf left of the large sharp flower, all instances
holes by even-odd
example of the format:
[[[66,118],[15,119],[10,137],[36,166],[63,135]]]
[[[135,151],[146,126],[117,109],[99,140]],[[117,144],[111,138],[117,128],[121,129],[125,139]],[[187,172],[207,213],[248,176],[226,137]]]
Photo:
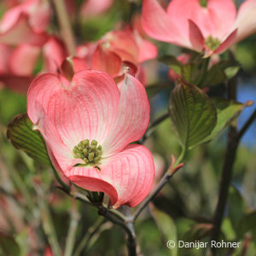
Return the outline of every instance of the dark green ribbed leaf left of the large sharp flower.
[[[32,122],[26,113],[16,116],[8,125],[7,137],[17,149],[23,150],[32,159],[49,165],[49,156],[44,139],[32,130]]]

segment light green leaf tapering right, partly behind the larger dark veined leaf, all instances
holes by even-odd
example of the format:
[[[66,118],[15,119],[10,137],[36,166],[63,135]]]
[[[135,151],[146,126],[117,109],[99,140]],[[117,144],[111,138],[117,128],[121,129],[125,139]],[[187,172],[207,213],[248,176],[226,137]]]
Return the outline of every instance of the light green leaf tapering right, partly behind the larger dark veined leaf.
[[[212,98],[211,100],[215,108],[217,108],[217,124],[212,133],[204,139],[205,142],[210,142],[214,137],[217,137],[247,107],[240,102],[223,98]]]

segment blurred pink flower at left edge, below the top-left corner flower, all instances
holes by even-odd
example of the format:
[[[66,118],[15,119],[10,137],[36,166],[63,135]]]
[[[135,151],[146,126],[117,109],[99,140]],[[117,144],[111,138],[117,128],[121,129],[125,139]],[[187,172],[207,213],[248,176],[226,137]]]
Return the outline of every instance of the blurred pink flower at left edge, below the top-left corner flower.
[[[56,73],[67,51],[59,39],[50,37],[42,46],[0,44],[0,55],[0,81],[10,90],[26,93],[35,72]],[[36,70],[38,61],[42,67]]]

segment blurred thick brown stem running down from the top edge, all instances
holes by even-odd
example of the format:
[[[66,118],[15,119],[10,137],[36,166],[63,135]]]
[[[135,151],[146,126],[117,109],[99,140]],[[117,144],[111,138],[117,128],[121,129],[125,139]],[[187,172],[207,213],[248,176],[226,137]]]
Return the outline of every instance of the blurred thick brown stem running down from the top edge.
[[[74,55],[76,44],[64,0],[53,0],[53,3],[55,4],[56,14],[61,26],[61,36],[67,46],[67,51],[69,55]]]

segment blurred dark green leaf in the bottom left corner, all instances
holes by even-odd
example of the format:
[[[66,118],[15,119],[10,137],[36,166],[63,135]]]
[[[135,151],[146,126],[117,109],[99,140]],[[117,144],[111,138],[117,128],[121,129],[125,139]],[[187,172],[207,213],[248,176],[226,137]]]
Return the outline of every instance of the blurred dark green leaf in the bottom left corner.
[[[20,247],[12,236],[4,236],[3,234],[0,234],[0,254],[20,256]]]

